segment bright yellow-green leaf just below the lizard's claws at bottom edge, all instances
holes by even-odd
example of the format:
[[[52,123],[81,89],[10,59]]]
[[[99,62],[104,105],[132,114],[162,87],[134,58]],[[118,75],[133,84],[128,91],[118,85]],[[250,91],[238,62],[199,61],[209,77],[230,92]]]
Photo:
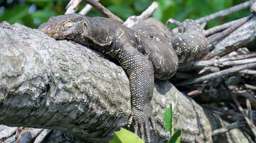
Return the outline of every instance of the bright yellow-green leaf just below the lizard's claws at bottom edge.
[[[130,132],[129,130],[126,130],[124,128],[121,128],[119,132],[115,132],[113,135],[113,140],[110,141],[110,143],[130,143],[130,142],[144,143],[144,141],[140,139],[139,136],[137,136],[133,132]]]

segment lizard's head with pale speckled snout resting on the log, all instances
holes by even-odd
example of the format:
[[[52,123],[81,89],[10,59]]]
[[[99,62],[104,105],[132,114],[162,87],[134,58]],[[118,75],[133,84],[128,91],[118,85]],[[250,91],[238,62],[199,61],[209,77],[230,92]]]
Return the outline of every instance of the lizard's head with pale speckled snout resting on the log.
[[[84,26],[84,16],[79,14],[65,14],[54,16],[48,22],[42,23],[38,30],[54,39],[76,39],[77,36],[87,34]]]

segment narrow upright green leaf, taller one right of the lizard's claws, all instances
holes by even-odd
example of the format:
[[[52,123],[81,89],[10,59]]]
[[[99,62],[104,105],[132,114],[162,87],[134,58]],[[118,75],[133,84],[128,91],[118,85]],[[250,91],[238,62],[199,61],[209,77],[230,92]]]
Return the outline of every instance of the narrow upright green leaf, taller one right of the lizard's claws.
[[[163,113],[163,122],[165,123],[165,129],[170,132],[171,136],[174,133],[173,129],[173,109],[172,104]]]

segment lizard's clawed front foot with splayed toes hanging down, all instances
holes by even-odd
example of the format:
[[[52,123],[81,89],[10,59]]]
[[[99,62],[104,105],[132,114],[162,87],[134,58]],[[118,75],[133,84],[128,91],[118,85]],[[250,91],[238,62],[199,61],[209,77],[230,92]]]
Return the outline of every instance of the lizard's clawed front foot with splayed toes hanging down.
[[[131,112],[131,116],[126,123],[127,127],[130,127],[134,123],[134,133],[138,135],[140,132],[140,137],[145,141],[145,135],[147,142],[151,142],[150,137],[150,124],[153,131],[156,133],[156,123],[152,114],[152,105],[147,103],[146,105],[134,107]]]

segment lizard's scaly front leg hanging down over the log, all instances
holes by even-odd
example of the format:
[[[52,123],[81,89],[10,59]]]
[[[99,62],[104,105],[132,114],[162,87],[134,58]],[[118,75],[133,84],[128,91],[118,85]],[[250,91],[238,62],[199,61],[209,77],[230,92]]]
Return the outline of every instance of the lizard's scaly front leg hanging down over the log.
[[[154,88],[153,64],[132,46],[122,46],[116,59],[130,77],[132,112],[127,125],[134,122],[135,133],[138,134],[139,131],[143,140],[146,135],[147,142],[151,142],[150,123],[153,130],[156,130],[151,104]]]

